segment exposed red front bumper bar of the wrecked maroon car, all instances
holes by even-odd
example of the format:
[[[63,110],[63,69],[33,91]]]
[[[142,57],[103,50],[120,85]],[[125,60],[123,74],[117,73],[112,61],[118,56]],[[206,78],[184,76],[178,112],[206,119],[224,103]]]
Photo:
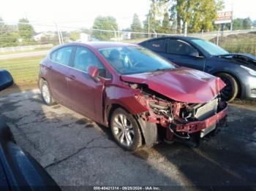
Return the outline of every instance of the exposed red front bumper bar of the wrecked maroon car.
[[[214,126],[214,128],[212,128]],[[203,133],[203,131],[211,128],[211,131],[227,126],[227,106],[222,111],[208,117],[206,120],[187,122],[186,124],[170,124],[167,128],[166,139],[171,141],[175,137],[180,139],[190,139],[192,133]],[[200,136],[200,135],[199,135]],[[201,136],[202,138],[202,136]]]

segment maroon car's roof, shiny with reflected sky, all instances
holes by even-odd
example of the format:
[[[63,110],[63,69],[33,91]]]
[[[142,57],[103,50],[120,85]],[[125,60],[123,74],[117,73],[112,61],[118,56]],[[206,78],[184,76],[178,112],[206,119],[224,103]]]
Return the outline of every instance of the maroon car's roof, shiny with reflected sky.
[[[65,46],[68,45],[88,45],[95,49],[102,49],[102,48],[110,48],[110,47],[131,47],[131,46],[138,46],[137,44],[132,43],[123,43],[123,42],[72,42],[68,44],[64,44]]]

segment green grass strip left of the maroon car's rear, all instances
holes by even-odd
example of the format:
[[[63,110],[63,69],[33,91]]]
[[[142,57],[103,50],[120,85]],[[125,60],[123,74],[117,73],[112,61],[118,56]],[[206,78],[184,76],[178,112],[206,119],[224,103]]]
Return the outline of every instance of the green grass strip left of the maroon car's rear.
[[[42,58],[45,58],[45,55],[0,60],[0,69],[10,71],[17,84],[36,83]]]

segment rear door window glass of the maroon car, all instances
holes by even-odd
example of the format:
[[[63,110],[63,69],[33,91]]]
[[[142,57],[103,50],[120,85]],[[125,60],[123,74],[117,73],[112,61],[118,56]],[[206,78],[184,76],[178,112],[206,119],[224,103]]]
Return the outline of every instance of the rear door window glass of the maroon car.
[[[72,49],[73,47],[62,47],[51,53],[50,59],[67,66],[69,65]]]

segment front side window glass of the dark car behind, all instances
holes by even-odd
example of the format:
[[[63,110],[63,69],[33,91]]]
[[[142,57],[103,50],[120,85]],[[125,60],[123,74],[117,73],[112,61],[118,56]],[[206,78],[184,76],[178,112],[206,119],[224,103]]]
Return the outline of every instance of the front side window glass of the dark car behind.
[[[191,55],[192,52],[197,52],[197,50],[189,43],[179,39],[169,39],[168,53],[174,55]]]

